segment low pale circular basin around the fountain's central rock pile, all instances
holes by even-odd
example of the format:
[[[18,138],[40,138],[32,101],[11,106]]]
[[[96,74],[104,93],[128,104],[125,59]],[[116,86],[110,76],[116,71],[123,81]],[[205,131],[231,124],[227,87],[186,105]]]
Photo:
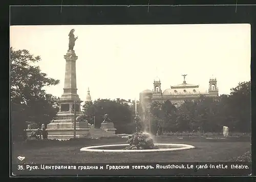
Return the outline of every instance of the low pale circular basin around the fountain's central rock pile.
[[[98,146],[90,146],[83,147],[80,151],[88,151],[88,152],[161,152],[161,151],[174,151],[174,150],[186,150],[195,148],[193,145],[187,144],[173,144],[173,143],[156,143],[156,146],[159,149],[137,149],[137,150],[125,150],[125,149],[109,149],[109,148],[117,148],[117,147],[125,147],[129,146],[129,144],[114,144],[114,145],[98,145]],[[104,149],[106,148],[106,149]]]

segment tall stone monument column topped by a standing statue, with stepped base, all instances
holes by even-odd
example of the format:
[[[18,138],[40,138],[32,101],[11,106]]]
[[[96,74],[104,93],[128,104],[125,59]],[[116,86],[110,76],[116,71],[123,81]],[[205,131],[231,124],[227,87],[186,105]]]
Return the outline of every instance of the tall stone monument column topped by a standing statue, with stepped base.
[[[73,50],[75,45],[74,29],[69,34],[69,50],[64,55],[66,60],[65,82],[63,94],[59,99],[59,112],[57,119],[47,125],[49,139],[70,139],[74,136],[74,120],[81,115],[80,100],[76,88],[76,60],[78,57]],[[74,104],[76,103],[76,107]],[[89,126],[85,121],[76,121],[76,137],[81,138],[89,134]]]

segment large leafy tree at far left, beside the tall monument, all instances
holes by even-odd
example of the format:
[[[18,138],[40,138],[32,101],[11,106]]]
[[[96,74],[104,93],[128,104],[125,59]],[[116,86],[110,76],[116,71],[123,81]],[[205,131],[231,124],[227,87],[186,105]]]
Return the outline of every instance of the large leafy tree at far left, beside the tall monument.
[[[14,50],[11,47],[11,123],[15,136],[26,127],[25,121],[47,124],[57,113],[58,99],[47,94],[44,87],[57,85],[59,80],[47,77],[39,66],[33,65],[39,61],[40,57],[34,57],[28,50]]]

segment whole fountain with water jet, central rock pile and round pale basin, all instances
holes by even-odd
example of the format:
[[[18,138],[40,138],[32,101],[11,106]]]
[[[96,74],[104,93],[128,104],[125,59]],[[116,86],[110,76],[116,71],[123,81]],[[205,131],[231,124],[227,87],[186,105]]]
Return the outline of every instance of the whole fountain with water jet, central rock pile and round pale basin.
[[[136,100],[135,100],[136,103]],[[114,144],[114,145],[99,145],[83,147],[80,151],[88,152],[160,152],[160,151],[174,151],[195,148],[193,145],[187,144],[172,144],[172,143],[154,143],[154,137],[150,133],[145,132],[145,124],[137,115],[137,104],[135,104],[134,118],[136,123],[136,131],[134,134],[128,136],[128,144]],[[144,128],[143,128],[144,126]]]

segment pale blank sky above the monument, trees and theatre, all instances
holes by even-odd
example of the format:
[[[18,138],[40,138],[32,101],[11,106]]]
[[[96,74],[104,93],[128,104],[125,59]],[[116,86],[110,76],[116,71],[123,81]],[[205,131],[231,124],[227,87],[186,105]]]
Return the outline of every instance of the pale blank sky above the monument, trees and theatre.
[[[40,56],[41,71],[60,80],[45,88],[57,97],[63,93],[71,29],[78,36],[74,50],[81,100],[88,87],[92,100],[138,100],[141,91],[153,89],[156,77],[164,91],[181,84],[182,74],[188,84],[207,90],[213,76],[219,94],[250,80],[250,24],[11,26],[10,46]]]

